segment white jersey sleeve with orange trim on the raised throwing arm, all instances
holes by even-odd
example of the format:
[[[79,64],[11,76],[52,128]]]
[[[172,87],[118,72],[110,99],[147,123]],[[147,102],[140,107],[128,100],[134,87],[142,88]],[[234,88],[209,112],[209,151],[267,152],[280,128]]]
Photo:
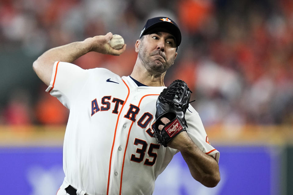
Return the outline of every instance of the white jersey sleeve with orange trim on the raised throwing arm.
[[[55,62],[46,92],[56,97],[65,107],[77,97],[89,78],[88,71],[68,62]]]

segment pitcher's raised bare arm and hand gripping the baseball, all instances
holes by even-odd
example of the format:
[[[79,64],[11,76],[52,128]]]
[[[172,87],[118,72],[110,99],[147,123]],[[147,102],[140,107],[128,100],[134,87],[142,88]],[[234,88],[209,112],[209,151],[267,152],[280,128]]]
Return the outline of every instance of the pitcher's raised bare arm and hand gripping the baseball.
[[[109,41],[112,36],[112,33],[107,33],[106,35],[90,37],[84,41],[73,42],[49,49],[34,61],[33,69],[38,77],[49,86],[54,62],[56,61],[73,62],[90,51],[109,55],[122,54],[126,49],[126,44],[124,44],[123,48],[120,50],[111,48]]]

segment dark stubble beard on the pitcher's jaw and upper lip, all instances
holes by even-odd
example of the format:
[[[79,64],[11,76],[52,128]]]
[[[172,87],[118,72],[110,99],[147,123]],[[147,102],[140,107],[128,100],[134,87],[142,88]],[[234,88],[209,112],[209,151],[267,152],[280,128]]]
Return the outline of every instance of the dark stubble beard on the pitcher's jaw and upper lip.
[[[162,58],[165,59],[165,62],[151,59],[152,55],[160,55]],[[140,44],[138,57],[139,57],[140,61],[142,62],[143,66],[150,73],[164,73],[165,71],[167,71],[170,68],[170,66],[173,65],[174,60],[175,60],[175,54],[171,59],[166,60],[166,56],[164,53],[162,53],[161,50],[156,50],[156,51],[153,51],[149,54],[147,52],[147,48],[144,47],[143,41]]]

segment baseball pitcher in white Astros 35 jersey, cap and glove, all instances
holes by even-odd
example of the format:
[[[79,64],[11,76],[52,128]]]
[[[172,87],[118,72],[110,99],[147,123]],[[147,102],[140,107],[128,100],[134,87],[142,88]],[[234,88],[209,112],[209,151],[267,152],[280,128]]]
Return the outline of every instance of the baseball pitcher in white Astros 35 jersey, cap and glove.
[[[168,17],[147,20],[130,76],[71,63],[90,51],[121,55],[126,44],[111,48],[112,36],[52,48],[33,63],[46,91],[70,110],[65,178],[57,195],[151,195],[157,176],[178,152],[195,180],[216,186],[219,151],[189,104],[191,90],[183,80],[164,85],[181,43],[177,24]]]

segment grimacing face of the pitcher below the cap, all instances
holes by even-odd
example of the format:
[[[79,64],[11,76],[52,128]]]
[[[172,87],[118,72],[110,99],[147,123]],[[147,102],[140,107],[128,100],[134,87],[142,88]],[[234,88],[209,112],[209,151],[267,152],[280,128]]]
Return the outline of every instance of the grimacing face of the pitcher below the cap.
[[[144,35],[140,40],[138,56],[150,73],[163,73],[177,56],[175,38],[167,32]]]

